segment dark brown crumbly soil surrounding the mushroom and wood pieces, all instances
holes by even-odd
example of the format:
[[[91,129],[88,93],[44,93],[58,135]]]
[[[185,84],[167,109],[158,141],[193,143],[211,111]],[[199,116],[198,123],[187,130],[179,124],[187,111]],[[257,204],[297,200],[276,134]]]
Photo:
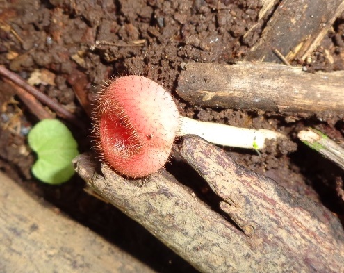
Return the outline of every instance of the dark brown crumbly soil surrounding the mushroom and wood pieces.
[[[343,171],[296,138],[298,131],[313,126],[343,143],[342,119],[336,115],[302,118],[200,108],[190,106],[174,92],[183,63],[234,63],[245,57],[261,34],[256,31],[243,39],[257,20],[261,8],[258,0],[15,0],[0,5],[0,65],[25,79],[36,70],[50,72],[36,86],[88,127],[80,131],[67,124],[81,152],[90,151],[92,146],[92,126],[85,110],[95,94],[94,87],[111,76],[140,74],[172,92],[181,115],[249,128],[268,126],[288,135],[297,144],[293,153],[288,153],[290,147],[263,151],[261,156],[255,151],[227,151],[237,163],[322,201],[334,213],[343,215],[343,199],[336,189]],[[344,14],[313,53],[316,62],[309,65],[309,71],[344,69],[343,35]],[[15,96],[13,88],[3,81],[0,88],[1,170],[159,272],[193,272],[141,226],[85,193],[85,183],[78,176],[60,186],[37,181],[30,171],[35,154],[27,145],[26,135],[38,120]],[[167,169],[182,180],[195,179],[193,174],[183,173],[189,169],[182,165],[172,159]]]

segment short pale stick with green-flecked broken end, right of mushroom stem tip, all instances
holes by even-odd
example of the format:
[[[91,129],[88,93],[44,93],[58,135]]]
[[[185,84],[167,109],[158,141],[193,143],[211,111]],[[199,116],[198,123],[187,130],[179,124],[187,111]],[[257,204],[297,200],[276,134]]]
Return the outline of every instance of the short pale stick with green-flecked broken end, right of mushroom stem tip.
[[[318,151],[344,169],[344,149],[333,140],[330,140],[327,135],[324,135],[320,131],[309,129],[309,131],[300,131],[297,137],[304,144],[311,147],[311,149]]]

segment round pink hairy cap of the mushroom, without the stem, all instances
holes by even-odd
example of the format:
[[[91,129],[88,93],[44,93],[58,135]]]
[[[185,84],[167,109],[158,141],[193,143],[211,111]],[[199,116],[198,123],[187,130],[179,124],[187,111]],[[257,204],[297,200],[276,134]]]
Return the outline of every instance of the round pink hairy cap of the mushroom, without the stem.
[[[115,171],[138,178],[165,165],[179,114],[161,85],[143,76],[117,78],[99,93],[96,111],[101,155]]]

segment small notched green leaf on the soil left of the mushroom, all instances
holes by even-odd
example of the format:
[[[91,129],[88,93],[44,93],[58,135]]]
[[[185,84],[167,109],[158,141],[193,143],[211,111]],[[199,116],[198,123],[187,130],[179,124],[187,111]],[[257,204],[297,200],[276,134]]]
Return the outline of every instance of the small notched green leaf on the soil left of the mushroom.
[[[58,119],[43,119],[28,133],[28,145],[38,155],[31,169],[35,177],[49,184],[60,184],[72,177],[72,159],[79,151],[65,124]]]

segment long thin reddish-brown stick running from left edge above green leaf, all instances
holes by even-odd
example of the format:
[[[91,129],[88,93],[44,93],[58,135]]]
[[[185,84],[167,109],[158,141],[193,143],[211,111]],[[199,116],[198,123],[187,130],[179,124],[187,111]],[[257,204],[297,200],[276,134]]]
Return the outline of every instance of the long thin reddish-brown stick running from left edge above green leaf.
[[[13,72],[10,72],[8,69],[6,69],[6,67],[3,67],[2,65],[0,65],[0,75],[8,78],[10,81],[13,81],[13,83],[35,96],[35,98],[41,101],[42,104],[49,106],[49,108],[56,111],[56,113],[64,119],[67,119],[69,122],[72,122],[76,126],[83,128],[83,124],[81,124],[80,119],[78,119],[75,115],[63,108],[63,106],[58,104],[53,99],[47,97],[47,95],[40,92],[37,88],[34,88],[33,86],[26,83],[23,78]]]

